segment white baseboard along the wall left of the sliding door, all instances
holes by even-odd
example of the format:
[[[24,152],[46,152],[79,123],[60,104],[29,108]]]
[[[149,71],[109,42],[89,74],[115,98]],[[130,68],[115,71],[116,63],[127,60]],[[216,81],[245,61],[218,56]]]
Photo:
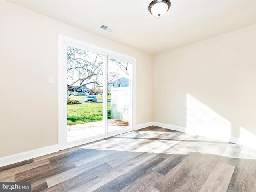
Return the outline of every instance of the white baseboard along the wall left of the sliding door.
[[[43,148],[23,152],[23,153],[2,157],[0,158],[0,167],[22,162],[22,161],[43,156],[46,154],[54,153],[54,152],[57,152],[58,149],[59,149],[58,145],[52,145],[48,147],[43,147]]]

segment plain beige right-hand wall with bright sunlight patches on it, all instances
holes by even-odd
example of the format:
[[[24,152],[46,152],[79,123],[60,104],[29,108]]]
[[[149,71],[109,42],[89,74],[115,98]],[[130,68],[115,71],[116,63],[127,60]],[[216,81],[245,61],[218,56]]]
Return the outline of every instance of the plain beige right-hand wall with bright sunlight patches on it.
[[[154,121],[255,138],[255,34],[252,25],[154,56]]]

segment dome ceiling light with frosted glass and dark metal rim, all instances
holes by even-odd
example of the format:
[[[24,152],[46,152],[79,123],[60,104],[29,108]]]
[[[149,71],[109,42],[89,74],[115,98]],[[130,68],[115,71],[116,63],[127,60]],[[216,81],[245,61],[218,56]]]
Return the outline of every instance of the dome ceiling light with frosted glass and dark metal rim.
[[[169,10],[171,6],[170,0],[154,0],[148,6],[148,11],[155,17],[161,18]]]

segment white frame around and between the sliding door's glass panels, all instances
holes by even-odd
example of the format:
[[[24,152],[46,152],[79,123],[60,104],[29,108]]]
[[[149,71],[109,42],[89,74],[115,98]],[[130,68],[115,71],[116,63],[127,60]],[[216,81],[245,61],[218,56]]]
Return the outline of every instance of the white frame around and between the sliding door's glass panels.
[[[103,102],[103,122],[104,122],[104,127],[105,127],[105,134],[97,136],[95,138],[87,138],[86,140],[82,140],[81,142],[73,142],[73,143],[67,143],[67,46],[72,46],[76,48],[80,48],[83,50],[87,50],[90,52],[95,52],[98,54],[102,54],[105,56],[105,61],[104,61],[104,69],[106,71],[107,69],[107,61],[108,61],[108,56],[114,59],[122,60],[125,62],[129,62],[132,64],[132,77],[131,77],[131,85],[132,85],[132,105],[131,105],[131,122],[130,127],[131,130],[135,129],[135,77],[136,77],[136,58],[127,56],[124,54],[120,54],[118,52],[114,52],[112,50],[104,49],[98,46],[94,46],[92,44],[88,44],[86,42],[82,42],[73,38],[69,38],[66,36],[59,35],[59,62],[58,62],[58,146],[59,150],[70,148],[73,146],[78,146],[81,144],[86,144],[88,142],[92,142],[95,140],[100,140],[102,138],[107,138],[110,136],[114,136],[117,134],[121,134],[124,132],[128,132],[127,130],[124,130],[122,132],[113,132],[112,134],[107,134],[107,75],[104,75],[104,100]],[[104,72],[106,73],[106,72]]]

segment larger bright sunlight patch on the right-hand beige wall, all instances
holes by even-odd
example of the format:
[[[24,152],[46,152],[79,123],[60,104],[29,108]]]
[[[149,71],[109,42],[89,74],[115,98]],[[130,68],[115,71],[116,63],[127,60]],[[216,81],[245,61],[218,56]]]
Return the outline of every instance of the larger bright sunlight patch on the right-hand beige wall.
[[[188,93],[186,117],[186,132],[218,140],[230,140],[231,123]]]

